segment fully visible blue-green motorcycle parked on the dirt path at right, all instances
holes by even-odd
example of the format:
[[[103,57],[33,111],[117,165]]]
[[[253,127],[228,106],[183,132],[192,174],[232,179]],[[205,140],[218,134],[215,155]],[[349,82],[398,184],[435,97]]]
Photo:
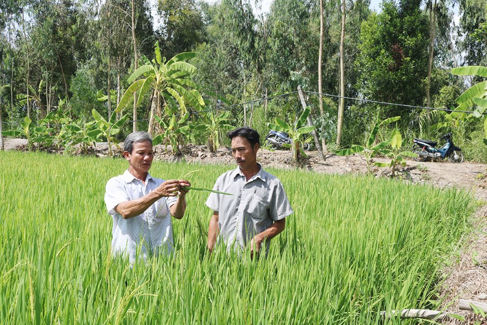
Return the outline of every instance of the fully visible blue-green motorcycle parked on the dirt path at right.
[[[451,141],[451,133],[447,133],[441,137],[446,143],[441,148],[435,148],[438,142],[433,142],[430,140],[414,139],[414,146],[412,152],[418,155],[414,160],[416,161],[426,161],[429,158],[441,158],[448,159],[452,163],[462,163],[463,153],[462,149],[456,147]]]

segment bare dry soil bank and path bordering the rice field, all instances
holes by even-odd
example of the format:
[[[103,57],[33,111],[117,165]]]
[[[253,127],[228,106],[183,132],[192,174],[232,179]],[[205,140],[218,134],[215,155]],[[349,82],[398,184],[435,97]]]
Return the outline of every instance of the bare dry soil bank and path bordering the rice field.
[[[25,150],[26,140],[5,139],[6,150]],[[200,164],[228,164],[234,166],[234,161],[229,148],[221,148],[211,153],[205,146],[188,145],[181,149],[181,154],[173,155],[163,145],[155,147],[155,159],[162,161],[186,161]],[[44,149],[43,149],[44,150]],[[49,152],[57,152],[55,148],[45,149]],[[121,155],[121,151],[115,146],[113,150]],[[103,157],[107,156],[108,145],[97,143],[90,148],[90,154]],[[81,154],[79,147],[73,148],[71,154]],[[337,156],[328,154],[326,160],[316,151],[308,152],[300,166],[293,165],[291,154],[286,150],[270,151],[262,149],[258,153],[259,163],[264,167],[281,169],[304,169],[325,174],[364,174],[367,172],[365,160],[360,155]],[[389,161],[376,158],[375,161]],[[376,177],[389,177],[390,171],[386,168],[373,167],[372,173]],[[479,200],[473,223],[474,231],[468,238],[462,239],[460,255],[452,260],[444,269],[446,280],[441,288],[441,297],[444,300],[441,308],[448,313],[465,316],[465,321],[455,318],[444,320],[446,324],[474,324],[480,321],[487,324],[487,318],[482,318],[472,312],[458,309],[459,299],[468,299],[487,303],[487,165],[462,163],[452,164],[449,161],[427,161],[418,163],[408,160],[407,166],[399,171],[399,178],[405,182],[416,184],[427,183],[441,188],[457,187],[471,191]],[[405,308],[418,308],[418,306],[405,306]]]

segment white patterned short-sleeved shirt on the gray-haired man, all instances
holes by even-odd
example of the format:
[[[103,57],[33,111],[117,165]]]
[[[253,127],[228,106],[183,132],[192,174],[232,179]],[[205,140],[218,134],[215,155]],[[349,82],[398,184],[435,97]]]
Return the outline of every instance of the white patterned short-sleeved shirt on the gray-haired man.
[[[124,219],[114,209],[122,202],[141,198],[158,187],[163,179],[153,178],[147,173],[145,184],[126,170],[123,175],[107,182],[105,204],[113,218],[112,254],[128,254],[130,263],[135,254],[146,258],[151,254],[170,253],[173,249],[172,220],[169,208],[177,197],[164,197],[157,200],[142,214]],[[142,245],[141,245],[142,244]]]

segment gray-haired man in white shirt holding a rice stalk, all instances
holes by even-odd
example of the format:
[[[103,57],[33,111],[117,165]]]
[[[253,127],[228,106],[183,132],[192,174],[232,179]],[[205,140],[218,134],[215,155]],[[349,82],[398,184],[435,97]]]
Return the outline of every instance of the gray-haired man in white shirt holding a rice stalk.
[[[181,219],[186,210],[187,180],[163,180],[149,174],[154,151],[146,132],[133,132],[124,142],[128,169],[111,178],[105,203],[113,218],[112,254],[126,254],[130,263],[173,250],[171,215]]]

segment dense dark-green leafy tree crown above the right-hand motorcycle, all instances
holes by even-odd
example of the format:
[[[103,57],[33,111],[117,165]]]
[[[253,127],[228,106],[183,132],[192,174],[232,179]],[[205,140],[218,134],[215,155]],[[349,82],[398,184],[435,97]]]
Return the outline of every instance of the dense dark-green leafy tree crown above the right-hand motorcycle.
[[[376,101],[423,104],[428,35],[427,16],[419,5],[398,8],[394,2],[384,2],[382,11],[362,24],[356,61],[359,91]],[[401,115],[403,122],[412,117],[395,106],[383,112],[385,117]]]

